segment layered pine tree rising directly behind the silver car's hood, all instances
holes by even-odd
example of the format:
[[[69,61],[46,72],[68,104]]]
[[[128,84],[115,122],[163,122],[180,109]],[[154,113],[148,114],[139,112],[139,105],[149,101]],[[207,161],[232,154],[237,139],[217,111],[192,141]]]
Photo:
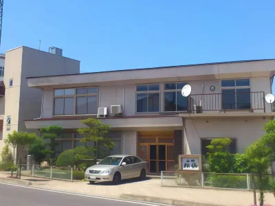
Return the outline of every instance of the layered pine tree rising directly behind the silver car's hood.
[[[107,137],[110,130],[110,126],[108,124],[102,124],[100,120],[92,118],[85,119],[82,122],[87,127],[78,128],[78,133],[84,135],[84,138],[80,141],[85,143],[89,141],[94,142],[92,149],[94,151],[95,159],[98,159],[98,155],[100,155],[104,148],[111,150],[111,148],[115,146],[113,141]]]

